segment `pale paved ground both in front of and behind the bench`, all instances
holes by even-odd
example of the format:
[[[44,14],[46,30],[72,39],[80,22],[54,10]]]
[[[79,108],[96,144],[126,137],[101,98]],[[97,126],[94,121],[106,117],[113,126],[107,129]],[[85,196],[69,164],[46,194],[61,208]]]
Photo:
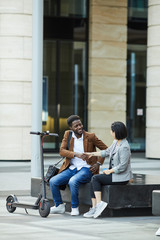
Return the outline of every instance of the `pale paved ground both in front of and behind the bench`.
[[[45,169],[56,159],[45,160]],[[160,216],[114,217],[85,219],[82,215],[49,215],[41,218],[37,210],[17,208],[14,213],[6,210],[6,196],[15,193],[21,202],[34,203],[30,197],[30,162],[0,162],[0,239],[54,239],[54,240],[154,240],[160,227]],[[108,167],[108,163],[102,168]],[[144,154],[132,154],[134,173],[160,174],[160,160],[145,159]]]

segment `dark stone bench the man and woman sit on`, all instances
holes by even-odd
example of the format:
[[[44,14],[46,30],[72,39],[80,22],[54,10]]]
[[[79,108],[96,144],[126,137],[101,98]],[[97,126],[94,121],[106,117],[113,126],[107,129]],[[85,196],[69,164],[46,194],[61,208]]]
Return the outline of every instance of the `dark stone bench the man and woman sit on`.
[[[102,200],[108,203],[104,216],[137,216],[152,215],[152,192],[160,190],[159,184],[145,184],[145,175],[134,175],[134,182],[127,185],[109,185],[102,188]],[[82,184],[79,189],[80,212],[91,206],[90,184]],[[31,195],[37,196],[40,191],[40,179],[32,179]],[[49,186],[46,186],[47,198],[52,200]],[[67,186],[61,191],[62,199],[70,208],[70,190]]]

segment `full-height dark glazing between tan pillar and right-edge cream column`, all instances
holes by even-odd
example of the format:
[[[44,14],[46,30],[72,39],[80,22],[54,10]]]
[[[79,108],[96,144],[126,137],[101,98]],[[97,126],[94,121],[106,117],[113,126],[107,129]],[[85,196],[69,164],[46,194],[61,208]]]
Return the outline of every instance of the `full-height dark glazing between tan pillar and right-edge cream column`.
[[[128,1],[127,127],[132,151],[145,150],[146,3],[147,1]]]

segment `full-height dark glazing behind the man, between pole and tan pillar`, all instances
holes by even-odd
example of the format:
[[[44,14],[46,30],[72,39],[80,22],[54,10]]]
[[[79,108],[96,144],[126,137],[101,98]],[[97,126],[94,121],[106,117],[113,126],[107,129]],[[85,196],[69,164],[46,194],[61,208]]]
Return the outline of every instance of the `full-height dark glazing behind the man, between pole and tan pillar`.
[[[58,152],[71,114],[87,130],[87,1],[44,1],[42,124],[59,134],[46,138],[44,150]]]

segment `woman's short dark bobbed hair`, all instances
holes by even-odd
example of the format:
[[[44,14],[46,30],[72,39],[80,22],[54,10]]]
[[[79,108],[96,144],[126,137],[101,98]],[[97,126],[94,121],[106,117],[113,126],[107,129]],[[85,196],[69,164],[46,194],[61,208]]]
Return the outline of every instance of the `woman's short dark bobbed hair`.
[[[122,123],[122,122],[114,122],[114,123],[112,123],[111,130],[112,130],[112,132],[115,133],[115,137],[118,140],[124,139],[128,135],[127,128],[124,125],[124,123]]]

